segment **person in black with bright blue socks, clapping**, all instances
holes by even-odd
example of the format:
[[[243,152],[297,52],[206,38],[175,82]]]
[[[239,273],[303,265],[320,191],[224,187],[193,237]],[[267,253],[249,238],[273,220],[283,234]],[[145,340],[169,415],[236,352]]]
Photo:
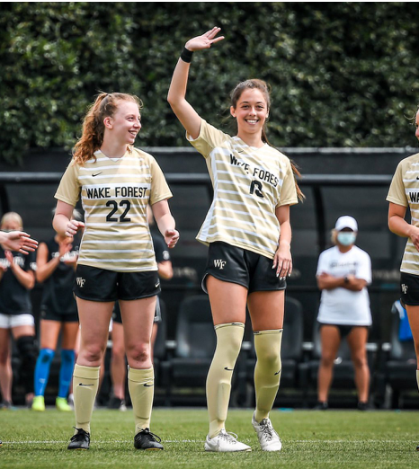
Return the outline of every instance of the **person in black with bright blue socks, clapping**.
[[[81,220],[74,210],[73,217]],[[67,403],[68,389],[75,365],[78,314],[73,284],[76,279],[78,245],[72,237],[55,235],[40,243],[37,252],[36,279],[44,284],[40,304],[40,355],[35,368],[35,397],[32,411],[45,411],[44,394],[49,368],[61,332],[61,367],[59,370],[58,411],[71,411]]]

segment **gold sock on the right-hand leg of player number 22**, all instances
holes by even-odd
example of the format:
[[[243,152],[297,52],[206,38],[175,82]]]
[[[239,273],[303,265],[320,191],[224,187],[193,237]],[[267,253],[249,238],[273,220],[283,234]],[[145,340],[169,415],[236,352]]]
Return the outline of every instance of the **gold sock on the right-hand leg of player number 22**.
[[[150,428],[151,409],[153,407],[155,370],[129,367],[128,389],[134,409],[135,434]]]

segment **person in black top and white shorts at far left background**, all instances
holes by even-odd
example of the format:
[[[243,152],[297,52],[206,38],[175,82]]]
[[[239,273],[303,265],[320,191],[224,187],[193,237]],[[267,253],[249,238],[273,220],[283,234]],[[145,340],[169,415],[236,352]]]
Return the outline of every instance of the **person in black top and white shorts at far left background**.
[[[4,231],[22,230],[22,217],[15,212],[4,214],[0,228]],[[20,376],[25,400],[31,405],[33,373],[37,358],[35,321],[31,314],[30,290],[35,286],[36,270],[33,252],[11,252],[0,245],[0,390],[3,409],[12,407],[10,337],[16,342],[21,358]]]

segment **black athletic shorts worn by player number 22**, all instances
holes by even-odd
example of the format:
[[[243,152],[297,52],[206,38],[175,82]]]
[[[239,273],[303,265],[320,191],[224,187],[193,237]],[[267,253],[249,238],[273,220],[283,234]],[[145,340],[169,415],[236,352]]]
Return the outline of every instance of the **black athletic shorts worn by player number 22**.
[[[73,291],[89,301],[129,301],[155,296],[161,290],[157,270],[115,272],[79,264]]]

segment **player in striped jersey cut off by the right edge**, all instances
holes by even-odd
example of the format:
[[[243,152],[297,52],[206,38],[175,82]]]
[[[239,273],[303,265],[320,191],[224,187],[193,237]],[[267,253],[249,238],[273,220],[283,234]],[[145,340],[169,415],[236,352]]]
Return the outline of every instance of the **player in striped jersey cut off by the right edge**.
[[[415,136],[419,139],[419,111],[415,116]],[[396,235],[407,238],[400,266],[400,301],[406,307],[415,341],[416,381],[419,388],[419,153],[402,160],[388,190],[388,227]],[[406,208],[411,221],[406,221]],[[416,447],[419,451],[419,445]]]

